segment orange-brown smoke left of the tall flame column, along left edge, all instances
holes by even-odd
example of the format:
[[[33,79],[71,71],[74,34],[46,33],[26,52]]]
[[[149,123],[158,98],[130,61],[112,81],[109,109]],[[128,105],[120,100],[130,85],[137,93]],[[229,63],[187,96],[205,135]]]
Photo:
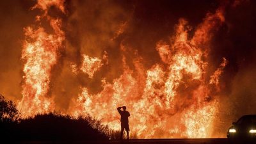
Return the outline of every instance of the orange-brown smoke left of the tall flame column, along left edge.
[[[28,12],[33,2],[4,1],[0,4],[0,93],[8,99],[21,99],[23,28],[33,22],[35,12]]]

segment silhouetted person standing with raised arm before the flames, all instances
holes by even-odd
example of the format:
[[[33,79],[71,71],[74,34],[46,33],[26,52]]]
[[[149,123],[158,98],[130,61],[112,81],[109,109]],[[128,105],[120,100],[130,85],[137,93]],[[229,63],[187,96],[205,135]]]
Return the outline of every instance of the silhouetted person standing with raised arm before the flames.
[[[121,109],[123,108],[123,111],[121,111]],[[121,139],[123,138],[123,132],[124,129],[127,133],[127,139],[129,139],[129,120],[128,117],[130,116],[130,113],[128,111],[126,111],[126,106],[122,106],[122,107],[118,107],[117,108],[118,112],[121,115]]]

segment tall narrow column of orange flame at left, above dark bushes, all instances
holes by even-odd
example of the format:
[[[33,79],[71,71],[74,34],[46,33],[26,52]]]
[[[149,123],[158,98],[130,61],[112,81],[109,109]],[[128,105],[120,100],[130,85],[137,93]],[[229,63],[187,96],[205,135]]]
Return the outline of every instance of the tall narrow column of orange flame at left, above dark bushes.
[[[47,8],[55,5],[63,11],[62,4],[63,1],[38,1],[34,8],[41,8],[47,12]],[[51,82],[51,70],[57,62],[58,50],[65,37],[60,29],[61,20],[47,18],[54,30],[53,35],[46,33],[41,26],[38,29],[31,26],[24,29],[26,40],[22,49],[22,60],[25,63],[23,97],[18,104],[24,117],[33,116],[35,113],[47,113],[54,109],[53,100],[46,96]]]

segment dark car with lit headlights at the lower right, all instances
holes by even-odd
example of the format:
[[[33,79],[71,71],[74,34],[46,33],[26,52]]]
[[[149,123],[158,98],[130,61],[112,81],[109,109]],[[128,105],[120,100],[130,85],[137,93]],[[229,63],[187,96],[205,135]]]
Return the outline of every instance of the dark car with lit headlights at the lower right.
[[[244,115],[228,129],[227,138],[232,143],[256,142],[256,115]]]

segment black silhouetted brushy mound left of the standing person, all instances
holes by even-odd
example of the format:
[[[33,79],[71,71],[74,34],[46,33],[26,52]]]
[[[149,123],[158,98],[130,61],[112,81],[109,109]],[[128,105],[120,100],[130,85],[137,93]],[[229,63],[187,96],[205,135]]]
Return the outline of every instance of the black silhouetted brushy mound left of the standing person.
[[[72,118],[48,113],[20,119],[15,104],[5,100],[3,95],[0,104],[2,140],[109,140],[109,128],[90,116]]]

